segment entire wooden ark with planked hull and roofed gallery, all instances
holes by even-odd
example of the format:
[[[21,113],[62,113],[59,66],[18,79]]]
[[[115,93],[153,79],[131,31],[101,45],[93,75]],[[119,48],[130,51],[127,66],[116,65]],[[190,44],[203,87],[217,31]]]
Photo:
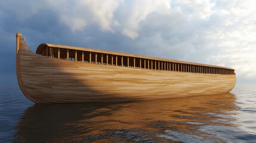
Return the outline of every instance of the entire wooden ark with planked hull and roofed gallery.
[[[42,43],[17,33],[16,70],[36,103],[132,101],[230,92],[235,70],[143,55]]]

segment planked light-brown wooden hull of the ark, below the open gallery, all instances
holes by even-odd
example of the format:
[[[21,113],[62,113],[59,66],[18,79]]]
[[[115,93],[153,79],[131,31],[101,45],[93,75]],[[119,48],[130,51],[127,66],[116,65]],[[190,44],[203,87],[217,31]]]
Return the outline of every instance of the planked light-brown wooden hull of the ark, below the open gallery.
[[[148,70],[69,61],[34,54],[17,38],[21,91],[36,103],[131,101],[224,94],[235,74]]]

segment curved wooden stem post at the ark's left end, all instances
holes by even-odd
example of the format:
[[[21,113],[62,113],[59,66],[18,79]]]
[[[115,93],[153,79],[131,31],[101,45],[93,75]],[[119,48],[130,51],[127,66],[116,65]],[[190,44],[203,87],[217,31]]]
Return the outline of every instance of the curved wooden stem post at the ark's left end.
[[[26,42],[24,42],[24,38],[22,38],[21,33],[17,33],[16,34],[16,73],[17,73],[18,85],[20,86],[20,89],[23,92],[23,94],[27,98],[29,98],[29,100],[38,103],[36,100],[34,100],[32,97],[30,97],[30,95],[26,91],[26,88],[23,86],[22,77],[21,77],[21,73],[20,73],[20,48],[21,48],[20,43],[21,42],[24,43],[24,44],[22,44],[23,46],[26,46]]]

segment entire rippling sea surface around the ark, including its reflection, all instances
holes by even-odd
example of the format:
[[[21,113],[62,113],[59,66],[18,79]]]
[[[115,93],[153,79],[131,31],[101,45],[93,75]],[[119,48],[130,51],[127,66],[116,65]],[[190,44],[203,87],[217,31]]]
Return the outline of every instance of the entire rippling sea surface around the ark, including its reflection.
[[[256,142],[256,86],[230,94],[36,105],[0,86],[0,142]]]

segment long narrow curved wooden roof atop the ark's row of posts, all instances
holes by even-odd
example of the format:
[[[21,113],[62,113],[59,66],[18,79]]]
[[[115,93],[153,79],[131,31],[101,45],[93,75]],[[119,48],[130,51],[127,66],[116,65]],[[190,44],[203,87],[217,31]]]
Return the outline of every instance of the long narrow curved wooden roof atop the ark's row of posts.
[[[112,52],[112,51],[105,51],[105,50],[100,50],[100,49],[82,48],[82,47],[77,47],[77,46],[57,45],[57,44],[51,44],[51,43],[41,43],[38,46],[38,48],[36,49],[36,53],[38,53],[38,51],[41,48],[45,48],[47,46],[53,47],[53,48],[74,49],[74,50],[79,50],[79,51],[98,52],[98,53],[103,53],[103,54],[113,54],[113,55],[120,55],[120,56],[126,56],[126,57],[144,58],[144,59],[149,59],[149,60],[168,61],[168,62],[172,62],[172,63],[181,63],[181,64],[196,65],[196,66],[215,67],[215,68],[221,68],[221,69],[235,70],[235,69],[232,69],[229,67],[213,66],[213,65],[209,65],[209,64],[199,64],[199,63],[192,63],[192,62],[187,62],[187,61],[169,60],[166,58],[148,57],[148,56],[144,56],[144,55],[127,54],[127,53],[123,53],[123,52]]]

